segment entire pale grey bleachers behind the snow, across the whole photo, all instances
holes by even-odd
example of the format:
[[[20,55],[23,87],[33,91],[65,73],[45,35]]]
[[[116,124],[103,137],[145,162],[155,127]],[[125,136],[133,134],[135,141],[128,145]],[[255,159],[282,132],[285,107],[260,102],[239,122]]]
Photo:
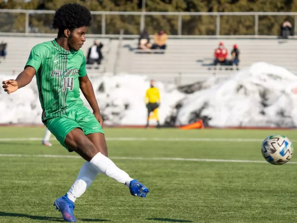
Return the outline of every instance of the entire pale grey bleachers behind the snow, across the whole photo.
[[[30,50],[36,44],[52,40],[53,37],[0,37],[8,43],[7,56],[0,63],[1,74],[18,74],[27,61]],[[83,46],[85,56],[95,38],[87,38]],[[102,73],[130,73],[147,75],[157,81],[187,84],[203,80],[211,75],[226,76],[234,70],[213,69],[213,52],[222,41],[228,49],[237,44],[240,68],[254,62],[264,61],[287,68],[297,73],[297,45],[295,40],[279,39],[169,39],[164,54],[140,54],[137,39],[99,39],[104,44],[104,59],[99,69],[87,69],[90,76]],[[230,56],[231,57],[231,56]]]

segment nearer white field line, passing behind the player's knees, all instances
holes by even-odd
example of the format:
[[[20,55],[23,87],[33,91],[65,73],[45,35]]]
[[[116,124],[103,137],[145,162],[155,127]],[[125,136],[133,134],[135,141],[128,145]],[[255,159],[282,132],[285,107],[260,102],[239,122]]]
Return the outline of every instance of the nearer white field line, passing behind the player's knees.
[[[37,158],[73,158],[82,159],[80,156],[67,155],[23,155],[23,154],[0,154],[0,157],[37,157]],[[111,160],[161,160],[161,161],[194,161],[194,162],[221,162],[221,163],[267,163],[257,160],[217,160],[217,159],[187,159],[187,158],[149,158],[149,157],[110,157]],[[297,164],[297,162],[288,162],[288,164]]]

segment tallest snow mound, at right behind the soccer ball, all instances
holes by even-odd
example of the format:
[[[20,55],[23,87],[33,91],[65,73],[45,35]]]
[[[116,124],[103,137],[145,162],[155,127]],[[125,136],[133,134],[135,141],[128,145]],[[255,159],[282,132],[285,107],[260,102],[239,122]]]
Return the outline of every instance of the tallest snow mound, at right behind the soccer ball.
[[[297,76],[285,68],[258,62],[230,78],[216,79],[182,102],[176,124],[202,118],[217,127],[297,126],[297,95],[292,93]]]

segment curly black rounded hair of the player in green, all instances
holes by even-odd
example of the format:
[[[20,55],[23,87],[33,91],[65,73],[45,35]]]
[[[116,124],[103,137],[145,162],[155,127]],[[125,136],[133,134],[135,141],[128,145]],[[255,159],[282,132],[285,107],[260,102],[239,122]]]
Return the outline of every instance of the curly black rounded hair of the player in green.
[[[91,21],[92,15],[88,8],[78,3],[68,3],[56,10],[52,28],[63,33],[65,29],[73,31],[83,26],[91,26]]]

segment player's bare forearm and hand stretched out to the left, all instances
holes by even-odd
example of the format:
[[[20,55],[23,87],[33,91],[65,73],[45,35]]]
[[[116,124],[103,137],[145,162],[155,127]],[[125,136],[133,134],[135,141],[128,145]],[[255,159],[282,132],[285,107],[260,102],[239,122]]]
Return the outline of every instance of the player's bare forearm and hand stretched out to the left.
[[[25,87],[27,84],[29,84],[32,81],[32,78],[34,77],[36,71],[32,66],[27,66],[18,76],[15,80],[10,79],[3,81],[3,88],[4,91],[8,94],[15,92],[17,89]]]

